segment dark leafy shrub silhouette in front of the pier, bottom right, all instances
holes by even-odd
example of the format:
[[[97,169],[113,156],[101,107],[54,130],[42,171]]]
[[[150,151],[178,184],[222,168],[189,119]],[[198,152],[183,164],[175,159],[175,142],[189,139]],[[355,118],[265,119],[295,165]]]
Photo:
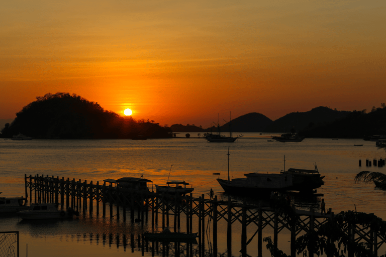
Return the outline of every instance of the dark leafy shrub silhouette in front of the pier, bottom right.
[[[292,208],[288,207],[283,199],[276,199],[276,208],[280,216],[282,216],[291,226],[298,225],[300,219]],[[370,245],[366,242],[355,242],[345,233],[353,224],[358,224],[363,228],[378,231],[382,237],[386,235],[386,222],[378,218],[373,213],[363,213],[354,211],[342,211],[319,226],[318,230],[304,234],[296,240],[296,251],[298,254],[303,253],[307,256],[309,251],[320,256],[346,256],[346,251],[351,249],[355,256],[360,257],[375,257],[371,251]],[[264,242],[267,242],[266,247],[270,251],[271,256],[287,257],[278,248],[274,247],[270,237],[265,237]],[[385,257],[385,255],[382,255]]]

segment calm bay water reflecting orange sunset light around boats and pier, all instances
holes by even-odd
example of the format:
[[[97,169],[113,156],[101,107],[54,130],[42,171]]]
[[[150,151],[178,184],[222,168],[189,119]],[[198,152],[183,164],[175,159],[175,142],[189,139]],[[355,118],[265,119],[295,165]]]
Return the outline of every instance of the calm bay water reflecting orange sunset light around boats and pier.
[[[195,133],[190,133],[195,136]],[[195,187],[194,196],[209,197],[213,188],[218,198],[227,199],[216,178],[228,176],[228,146],[230,146],[230,177],[243,177],[250,172],[274,173],[282,170],[285,155],[285,169],[313,169],[317,164],[325,185],[318,189],[323,193],[326,207],[335,213],[356,210],[374,213],[386,220],[386,191],[375,189],[373,185],[354,184],[355,175],[363,170],[386,172],[386,167],[366,167],[369,160],[385,158],[386,153],[375,147],[375,142],[362,140],[333,141],[331,139],[305,139],[300,143],[267,142],[259,134],[244,134],[235,143],[207,143],[204,139],[167,140],[0,140],[0,191],[2,196],[24,195],[24,175],[43,174],[70,179],[99,181],[106,178],[140,177],[164,184],[171,180],[184,180]],[[362,147],[354,145],[363,144]],[[358,160],[362,160],[362,167]],[[221,175],[213,175],[220,173]],[[155,187],[154,187],[155,191]],[[235,198],[240,202],[241,198]],[[258,200],[245,198],[250,203]],[[319,208],[321,197],[299,198],[294,196],[297,208]],[[0,217],[0,231],[20,231],[20,256],[141,256],[141,242],[123,235],[140,233],[137,225],[123,224],[122,221],[101,217],[80,217],[74,221],[23,222],[15,216]],[[184,224],[181,220],[181,224]],[[226,226],[219,225],[218,252],[225,253]],[[225,229],[225,230],[222,230]],[[255,232],[248,227],[248,239]],[[232,254],[239,256],[240,229],[233,229]],[[263,236],[268,236],[265,231]],[[288,234],[279,234],[281,248],[287,251]],[[288,239],[289,240],[289,239]],[[210,251],[211,242],[206,242]],[[28,244],[28,246],[27,246]],[[257,236],[250,245],[257,244]],[[257,246],[248,245],[248,254],[256,255]],[[186,245],[181,244],[184,250]],[[42,247],[44,251],[42,252]],[[194,246],[198,247],[198,246]],[[194,248],[194,252],[197,249]],[[133,251],[133,252],[132,252]],[[175,248],[170,245],[170,255]],[[144,251],[151,256],[151,250]],[[157,255],[157,252],[155,252]],[[158,255],[162,255],[159,249]],[[181,252],[184,255],[184,252]],[[198,255],[198,253],[197,253]]]

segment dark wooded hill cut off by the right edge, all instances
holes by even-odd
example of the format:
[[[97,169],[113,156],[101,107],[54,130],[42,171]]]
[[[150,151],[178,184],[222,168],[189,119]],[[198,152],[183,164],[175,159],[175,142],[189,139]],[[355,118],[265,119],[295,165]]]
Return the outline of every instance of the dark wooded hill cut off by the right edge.
[[[369,113],[354,110],[331,123],[306,127],[300,134],[310,138],[365,138],[386,135],[386,108],[376,108]]]

